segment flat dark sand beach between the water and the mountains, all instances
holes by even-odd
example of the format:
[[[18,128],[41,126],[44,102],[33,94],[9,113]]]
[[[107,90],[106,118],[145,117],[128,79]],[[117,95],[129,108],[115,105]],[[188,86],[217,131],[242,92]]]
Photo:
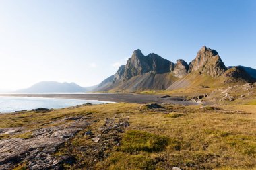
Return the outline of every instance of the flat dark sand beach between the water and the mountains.
[[[191,101],[184,101],[184,97],[166,97],[163,95],[141,95],[141,94],[114,94],[114,93],[80,93],[80,94],[0,94],[2,97],[44,97],[57,99],[82,99],[110,101],[116,103],[168,103],[177,105],[198,105]]]

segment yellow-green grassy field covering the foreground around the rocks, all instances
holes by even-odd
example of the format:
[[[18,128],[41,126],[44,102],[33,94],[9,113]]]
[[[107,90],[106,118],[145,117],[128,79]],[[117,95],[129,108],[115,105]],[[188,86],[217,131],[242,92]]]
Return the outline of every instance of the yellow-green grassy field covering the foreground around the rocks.
[[[73,120],[58,121],[69,116],[90,116],[95,123],[55,153],[56,157],[75,157],[75,163],[63,165],[66,169],[255,169],[255,105],[163,106],[149,109],[145,105],[117,103],[46,113],[1,114],[0,128],[20,127],[25,132],[2,134],[0,138],[31,139],[36,128],[69,124]],[[98,134],[106,119],[126,119],[129,126],[118,134],[118,144],[104,150],[105,157],[95,159],[95,151],[89,148],[100,149],[102,145],[92,142],[84,132]],[[26,169],[26,162],[19,163],[16,169]]]

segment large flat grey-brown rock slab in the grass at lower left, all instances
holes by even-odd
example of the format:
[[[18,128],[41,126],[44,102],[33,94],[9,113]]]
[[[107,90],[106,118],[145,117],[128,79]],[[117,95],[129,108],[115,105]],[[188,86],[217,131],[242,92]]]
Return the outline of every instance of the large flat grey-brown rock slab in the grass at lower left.
[[[75,120],[73,124],[32,130],[32,138],[0,140],[0,169],[13,169],[14,165],[24,160],[28,160],[28,169],[57,169],[61,159],[53,153],[57,151],[61,144],[67,142],[89,124],[81,118]],[[0,132],[8,132],[9,130],[14,129],[0,129]],[[70,161],[70,159],[67,159],[67,162]]]

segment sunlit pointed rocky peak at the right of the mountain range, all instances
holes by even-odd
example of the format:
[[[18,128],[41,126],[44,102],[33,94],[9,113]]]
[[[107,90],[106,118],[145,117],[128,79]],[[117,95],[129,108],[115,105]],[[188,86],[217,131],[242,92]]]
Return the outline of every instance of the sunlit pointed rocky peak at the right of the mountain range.
[[[226,71],[218,52],[203,46],[197,53],[196,58],[189,65],[189,73],[199,71],[211,77],[220,77]]]

